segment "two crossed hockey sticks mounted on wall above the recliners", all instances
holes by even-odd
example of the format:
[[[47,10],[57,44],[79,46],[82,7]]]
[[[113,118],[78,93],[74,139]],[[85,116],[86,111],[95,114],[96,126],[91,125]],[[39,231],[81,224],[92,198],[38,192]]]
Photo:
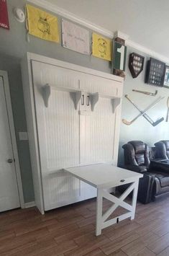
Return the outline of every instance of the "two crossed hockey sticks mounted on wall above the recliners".
[[[158,119],[156,122],[153,122],[153,120],[150,118],[149,115],[147,115],[145,112],[147,112],[147,110],[150,110],[150,108],[154,107],[157,102],[160,102],[160,100],[162,100],[164,97],[158,97],[157,100],[155,100],[154,102],[152,102],[151,105],[149,105],[148,107],[145,108],[145,110],[140,110],[139,107],[137,107],[137,105],[134,104],[134,102],[132,102],[132,100],[129,99],[128,95],[125,95],[125,97],[127,98],[127,100],[129,100],[129,102],[132,103],[132,105],[134,105],[134,107],[137,108],[137,110],[140,111],[140,114],[137,115],[133,120],[131,120],[130,122],[125,120],[125,119],[122,119],[122,122],[125,124],[125,125],[131,125],[132,123],[134,123],[135,120],[137,120],[137,118],[139,118],[140,116],[144,116],[144,118],[146,118],[148,120],[148,122],[151,123],[152,126],[155,126],[157,125],[158,123],[162,122],[164,120],[164,118],[160,118]]]

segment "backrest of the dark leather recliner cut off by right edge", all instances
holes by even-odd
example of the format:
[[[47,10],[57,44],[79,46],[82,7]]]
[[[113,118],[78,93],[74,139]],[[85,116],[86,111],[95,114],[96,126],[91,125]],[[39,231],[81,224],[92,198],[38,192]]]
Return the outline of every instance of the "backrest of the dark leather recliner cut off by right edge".
[[[155,158],[169,159],[169,141],[155,143]]]

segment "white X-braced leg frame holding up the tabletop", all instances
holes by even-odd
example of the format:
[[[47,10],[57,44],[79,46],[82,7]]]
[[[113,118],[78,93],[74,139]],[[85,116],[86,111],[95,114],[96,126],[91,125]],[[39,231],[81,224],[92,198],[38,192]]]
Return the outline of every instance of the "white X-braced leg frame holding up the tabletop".
[[[137,191],[138,191],[138,184],[139,180],[132,182],[132,185],[130,185],[127,190],[124,191],[124,193],[117,198],[114,195],[111,195],[107,190],[103,188],[97,189],[97,206],[96,206],[96,236],[101,234],[101,229],[106,228],[107,226],[111,226],[112,224],[118,223],[119,221],[122,221],[127,218],[134,219],[135,215],[135,208],[137,203]],[[124,202],[124,199],[127,198],[127,195],[129,193],[132,193],[132,205],[129,205],[129,203]],[[110,200],[113,204],[106,213],[103,214],[103,198],[106,198],[107,200]],[[114,219],[110,219],[106,221],[106,219],[109,218],[111,213],[113,213],[118,206],[121,206],[128,210],[127,213],[124,213],[120,216],[115,217]]]

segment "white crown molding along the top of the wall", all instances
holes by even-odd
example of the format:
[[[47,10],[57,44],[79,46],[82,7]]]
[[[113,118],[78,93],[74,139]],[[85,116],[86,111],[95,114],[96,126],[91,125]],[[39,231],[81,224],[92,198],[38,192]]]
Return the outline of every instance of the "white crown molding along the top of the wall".
[[[169,63],[169,58],[161,55],[160,53],[155,52],[154,50],[151,50],[150,48],[146,48],[145,46],[140,45],[139,43],[135,43],[132,40],[128,40],[128,35],[124,34],[123,32],[112,32],[110,30],[104,29],[104,27],[101,27],[99,25],[96,25],[92,22],[89,22],[87,19],[82,19],[81,17],[76,16],[75,14],[68,12],[65,9],[62,9],[58,7],[56,4],[51,4],[46,0],[28,0],[29,3],[35,4],[37,6],[40,6],[50,12],[53,12],[55,14],[60,15],[61,17],[65,17],[67,19],[70,19],[73,22],[76,22],[80,25],[83,25],[84,27],[88,27],[90,30],[93,30],[95,32],[99,32],[101,35],[105,35],[106,37],[113,38],[115,35],[121,35],[122,38],[126,39],[126,45],[135,48],[137,50],[140,50],[142,53],[147,53],[148,55],[159,59],[160,61],[164,61],[165,63]]]

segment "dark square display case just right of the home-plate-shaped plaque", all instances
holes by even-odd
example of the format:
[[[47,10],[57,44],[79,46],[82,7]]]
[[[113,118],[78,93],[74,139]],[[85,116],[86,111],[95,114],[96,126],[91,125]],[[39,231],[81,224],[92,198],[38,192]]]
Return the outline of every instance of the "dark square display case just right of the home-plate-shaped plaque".
[[[145,83],[156,86],[163,86],[165,63],[155,58],[147,61],[147,70],[145,75]]]

